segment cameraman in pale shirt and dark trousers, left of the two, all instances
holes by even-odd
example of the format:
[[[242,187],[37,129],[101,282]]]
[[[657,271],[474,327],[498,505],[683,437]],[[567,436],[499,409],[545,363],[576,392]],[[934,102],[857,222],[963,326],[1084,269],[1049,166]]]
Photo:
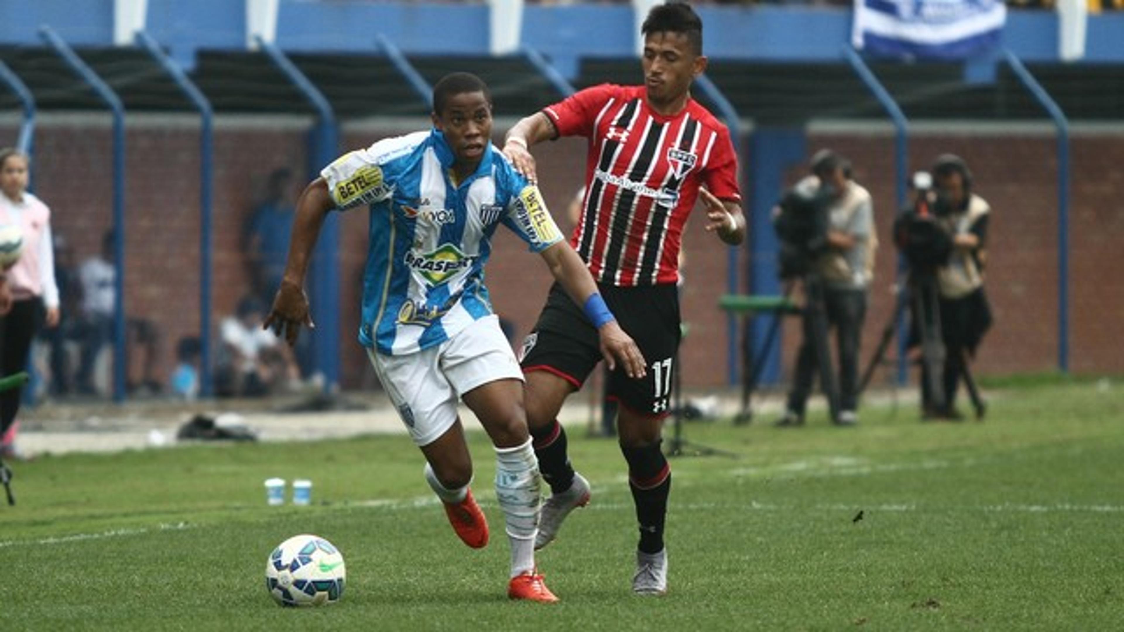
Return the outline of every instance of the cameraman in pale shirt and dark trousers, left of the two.
[[[788,408],[785,416],[777,422],[778,426],[799,426],[804,424],[804,412],[812,386],[817,372],[819,359],[816,349],[816,327],[814,314],[822,309],[826,316],[827,327],[836,329],[839,350],[839,408],[833,410],[833,423],[851,426],[858,423],[855,407],[858,404],[859,377],[859,341],[862,323],[867,314],[867,288],[871,280],[874,263],[877,237],[873,232],[873,208],[870,193],[851,180],[850,162],[830,151],[822,150],[812,159],[812,175],[798,182],[791,195],[810,196],[819,208],[822,225],[821,235],[804,242],[808,258],[803,273],[805,287],[805,316],[803,323],[804,341],[797,356],[796,377],[792,391],[788,396]],[[782,207],[786,202],[782,202]],[[789,205],[790,206],[790,205]],[[777,218],[778,234],[782,242],[786,238],[786,217],[790,211],[783,208]],[[815,220],[813,222],[815,224]],[[791,247],[782,245],[782,251]],[[782,276],[787,274],[782,261]],[[796,265],[795,268],[799,268]],[[819,286],[817,288],[817,286]],[[818,290],[818,291],[815,291]],[[813,305],[816,297],[822,297],[822,305]],[[822,344],[826,345],[826,331]],[[826,346],[823,347],[827,358]],[[826,361],[830,370],[830,359]],[[822,376],[822,381],[830,383],[830,376]],[[832,389],[826,388],[831,392]],[[830,395],[831,396],[831,395]]]

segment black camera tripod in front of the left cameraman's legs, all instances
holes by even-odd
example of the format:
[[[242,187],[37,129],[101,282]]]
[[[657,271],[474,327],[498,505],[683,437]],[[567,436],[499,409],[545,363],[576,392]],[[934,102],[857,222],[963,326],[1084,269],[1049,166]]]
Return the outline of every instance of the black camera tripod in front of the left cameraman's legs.
[[[803,279],[805,306],[798,308],[789,300],[789,296],[792,294],[796,283],[791,279],[788,280],[785,287],[785,296],[779,301],[772,301],[772,310],[779,314],[773,317],[773,322],[769,325],[764,343],[761,345],[761,350],[752,363],[750,362],[750,359],[753,356],[750,337],[746,335],[744,338],[742,350],[743,358],[745,359],[743,362],[742,379],[742,410],[734,416],[735,425],[749,424],[753,421],[750,398],[753,390],[758,387],[758,380],[761,378],[761,371],[764,369],[765,360],[769,358],[769,351],[777,342],[777,333],[780,331],[780,314],[783,313],[800,314],[804,318],[809,319],[808,333],[810,334],[813,349],[816,352],[816,368],[819,372],[821,389],[827,397],[827,406],[832,419],[839,418],[840,394],[835,385],[835,373],[832,369],[831,350],[827,346],[827,310],[824,303],[823,281],[818,274],[812,272],[804,274]]]

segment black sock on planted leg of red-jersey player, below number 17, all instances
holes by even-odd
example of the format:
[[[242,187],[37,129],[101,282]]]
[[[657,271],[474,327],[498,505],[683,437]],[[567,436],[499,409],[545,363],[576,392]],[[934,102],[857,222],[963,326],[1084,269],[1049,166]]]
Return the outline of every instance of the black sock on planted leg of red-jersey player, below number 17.
[[[663,523],[671,493],[671,468],[660,451],[660,442],[643,448],[620,448],[628,461],[628,487],[636,504],[640,544],[644,553],[663,550]]]

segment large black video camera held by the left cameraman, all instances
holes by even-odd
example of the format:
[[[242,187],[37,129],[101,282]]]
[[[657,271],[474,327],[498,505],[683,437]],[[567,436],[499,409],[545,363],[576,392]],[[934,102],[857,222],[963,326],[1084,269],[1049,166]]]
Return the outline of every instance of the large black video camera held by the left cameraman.
[[[778,205],[773,229],[780,240],[780,278],[807,274],[827,249],[830,187],[796,186],[785,192]]]

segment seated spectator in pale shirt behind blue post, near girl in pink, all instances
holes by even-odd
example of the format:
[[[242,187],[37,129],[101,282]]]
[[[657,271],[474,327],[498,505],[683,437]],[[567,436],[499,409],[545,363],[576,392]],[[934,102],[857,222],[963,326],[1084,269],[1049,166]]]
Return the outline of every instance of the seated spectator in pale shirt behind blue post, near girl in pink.
[[[98,355],[115,341],[115,318],[117,314],[117,267],[114,264],[116,233],[110,229],[101,237],[101,252],[82,262],[78,278],[82,288],[82,322],[79,325],[82,351],[75,378],[78,391],[97,395],[94,369]],[[156,379],[156,360],[160,352],[160,332],[147,318],[127,318],[125,322],[126,388],[134,392],[144,388],[160,392],[163,388]],[[140,376],[133,378],[133,351],[144,354]]]

